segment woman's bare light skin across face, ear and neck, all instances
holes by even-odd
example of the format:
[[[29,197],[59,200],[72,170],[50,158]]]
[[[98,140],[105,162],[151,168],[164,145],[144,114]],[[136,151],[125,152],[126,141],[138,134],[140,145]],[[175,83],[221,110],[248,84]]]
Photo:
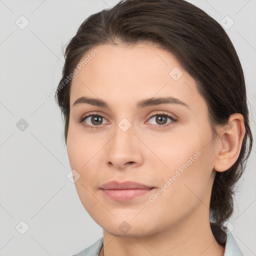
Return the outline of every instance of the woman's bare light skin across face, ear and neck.
[[[99,52],[72,80],[67,153],[71,168],[80,175],[75,182],[79,198],[103,228],[104,255],[187,255],[187,251],[191,256],[223,255],[224,246],[216,242],[209,225],[210,193],[216,171],[225,171],[238,158],[245,132],[243,116],[230,115],[214,141],[207,105],[194,79],[171,53],[147,43],[96,48]],[[173,67],[182,71],[177,80],[169,75]],[[102,99],[109,108],[73,106],[81,96]],[[138,100],[161,96],[178,98],[188,107],[136,108]],[[78,122],[95,112],[104,117],[99,125],[91,116]],[[157,121],[161,113],[177,121],[167,118],[161,124]],[[126,131],[118,126],[123,118],[131,124]],[[149,196],[197,151],[200,155],[189,167],[150,201]],[[133,200],[116,201],[99,189],[110,180],[155,188]],[[126,233],[118,228],[123,221],[130,227]]]

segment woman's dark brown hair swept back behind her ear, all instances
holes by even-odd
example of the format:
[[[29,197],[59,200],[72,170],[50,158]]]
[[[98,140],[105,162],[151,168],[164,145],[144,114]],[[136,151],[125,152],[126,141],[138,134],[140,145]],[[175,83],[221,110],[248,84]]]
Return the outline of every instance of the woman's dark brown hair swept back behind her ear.
[[[216,172],[212,186],[211,217],[223,223],[233,212],[234,185],[244,171],[253,139],[243,70],[236,51],[221,25],[193,4],[184,0],[121,0],[83,21],[66,46],[62,78],[55,94],[64,117],[65,143],[72,82],[66,77],[97,45],[138,42],[152,42],[171,52],[195,79],[208,106],[214,137],[217,125],[226,124],[230,114],[243,115],[246,130],[238,159],[228,170]]]

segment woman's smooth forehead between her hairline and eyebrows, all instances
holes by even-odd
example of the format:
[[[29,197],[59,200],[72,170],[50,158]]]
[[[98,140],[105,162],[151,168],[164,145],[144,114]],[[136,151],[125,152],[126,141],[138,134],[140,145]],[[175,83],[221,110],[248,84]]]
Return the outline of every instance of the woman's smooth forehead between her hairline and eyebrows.
[[[188,105],[203,100],[176,58],[152,44],[98,45],[79,63],[85,58],[72,79],[70,105],[81,96],[104,98],[110,104],[131,104],[153,96],[176,97]]]

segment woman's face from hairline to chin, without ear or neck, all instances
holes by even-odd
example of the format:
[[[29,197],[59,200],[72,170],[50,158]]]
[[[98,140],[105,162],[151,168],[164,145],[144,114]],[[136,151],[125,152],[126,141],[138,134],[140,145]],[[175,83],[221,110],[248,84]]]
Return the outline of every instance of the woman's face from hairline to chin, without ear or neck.
[[[81,59],[89,54],[70,90],[67,153],[83,206],[118,236],[207,219],[216,150],[194,79],[152,45],[96,49]]]

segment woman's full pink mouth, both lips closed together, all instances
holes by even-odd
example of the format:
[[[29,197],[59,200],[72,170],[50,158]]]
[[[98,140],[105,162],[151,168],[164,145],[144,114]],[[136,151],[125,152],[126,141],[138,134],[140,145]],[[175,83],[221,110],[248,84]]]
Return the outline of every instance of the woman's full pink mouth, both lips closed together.
[[[152,186],[129,180],[124,182],[112,180],[100,187],[105,196],[117,201],[132,200],[148,193],[153,188]]]

